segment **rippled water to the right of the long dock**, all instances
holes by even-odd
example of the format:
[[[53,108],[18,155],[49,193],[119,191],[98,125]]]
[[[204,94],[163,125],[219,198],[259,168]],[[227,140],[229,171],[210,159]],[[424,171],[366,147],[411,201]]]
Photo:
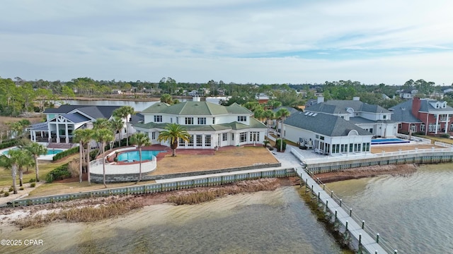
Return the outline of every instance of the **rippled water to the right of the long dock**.
[[[327,187],[398,253],[453,253],[453,164]]]

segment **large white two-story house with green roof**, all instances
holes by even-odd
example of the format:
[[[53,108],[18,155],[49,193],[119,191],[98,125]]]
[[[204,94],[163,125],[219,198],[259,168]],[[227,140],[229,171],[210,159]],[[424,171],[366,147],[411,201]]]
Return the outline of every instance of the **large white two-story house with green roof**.
[[[190,134],[189,142],[179,140],[178,148],[214,149],[229,145],[262,144],[267,127],[253,118],[253,113],[231,104],[222,106],[211,102],[181,102],[168,105],[153,104],[141,112],[144,123],[135,123],[138,132],[148,133],[152,144],[158,144],[159,133],[168,123],[178,123]],[[169,146],[169,143],[161,142]]]

